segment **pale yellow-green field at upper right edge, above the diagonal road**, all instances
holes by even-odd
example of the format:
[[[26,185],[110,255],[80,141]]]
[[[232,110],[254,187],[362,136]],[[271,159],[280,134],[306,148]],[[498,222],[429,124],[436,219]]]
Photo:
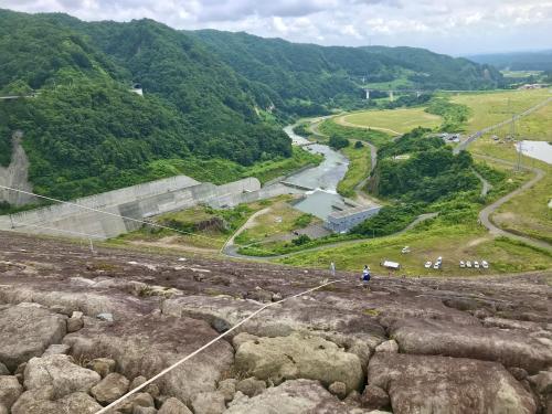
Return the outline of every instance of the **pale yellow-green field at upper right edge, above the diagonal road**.
[[[466,125],[468,132],[482,129],[511,118],[512,112],[521,113],[552,96],[549,89],[499,91],[490,93],[459,94],[453,103],[466,105],[470,117]]]

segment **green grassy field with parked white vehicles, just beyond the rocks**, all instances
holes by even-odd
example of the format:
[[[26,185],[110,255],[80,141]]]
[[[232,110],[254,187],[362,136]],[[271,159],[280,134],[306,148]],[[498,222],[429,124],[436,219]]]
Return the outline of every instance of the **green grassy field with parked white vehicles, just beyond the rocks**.
[[[411,253],[402,254],[404,246]],[[424,263],[443,257],[443,268],[426,269]],[[457,225],[435,226],[427,231],[412,231],[401,236],[389,236],[360,242],[343,247],[316,252],[305,252],[280,263],[296,266],[328,268],[331,262],[338,269],[362,270],[369,265],[375,275],[388,274],[380,267],[384,259],[399,262],[402,269],[397,273],[407,276],[470,276],[485,273],[516,273],[552,267],[552,254],[541,252],[508,240],[491,240],[480,226]],[[461,269],[459,261],[486,259],[490,269]]]

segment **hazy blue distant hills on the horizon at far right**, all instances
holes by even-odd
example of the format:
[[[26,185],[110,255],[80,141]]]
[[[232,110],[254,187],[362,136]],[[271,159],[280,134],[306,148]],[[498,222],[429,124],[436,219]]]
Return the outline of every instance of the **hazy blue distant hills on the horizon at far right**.
[[[474,62],[510,71],[552,71],[552,50],[541,52],[514,52],[469,56]]]

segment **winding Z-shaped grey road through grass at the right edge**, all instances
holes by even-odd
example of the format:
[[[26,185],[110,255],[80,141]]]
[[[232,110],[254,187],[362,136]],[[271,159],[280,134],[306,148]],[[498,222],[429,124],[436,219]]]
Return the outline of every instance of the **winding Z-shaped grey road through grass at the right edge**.
[[[514,167],[516,166],[516,163],[513,163],[513,162],[505,161],[505,160],[499,159],[499,158],[493,158],[493,157],[488,157],[488,156],[482,156],[482,155],[476,155],[476,156],[478,158],[487,159],[487,160],[490,160],[490,161],[493,161],[493,162],[503,163],[506,166],[510,166],[510,167]],[[526,167],[526,166],[523,166],[522,168],[524,170],[534,172],[535,177],[532,178],[531,180],[529,180],[528,182],[526,182],[523,185],[521,185],[517,190],[513,190],[511,193],[506,194],[505,197],[502,197],[502,198],[498,199],[497,201],[495,201],[492,204],[489,204],[485,209],[482,209],[479,212],[479,221],[493,235],[497,235],[497,236],[507,236],[507,237],[510,237],[510,238],[519,240],[519,241],[521,241],[523,243],[527,243],[529,245],[532,245],[532,246],[537,246],[537,247],[541,247],[541,248],[546,248],[546,250],[552,250],[552,244],[550,244],[550,243],[546,243],[546,242],[540,241],[540,240],[534,240],[534,238],[531,238],[531,237],[528,237],[528,236],[519,235],[519,234],[516,234],[516,233],[512,233],[512,232],[508,232],[506,230],[497,227],[491,222],[491,220],[490,220],[491,214],[495,211],[497,211],[497,209],[499,206],[501,206],[506,202],[510,201],[516,195],[521,194],[523,191],[529,190],[534,184],[537,184],[539,181],[541,181],[542,178],[544,177],[544,171],[541,170],[540,168]]]

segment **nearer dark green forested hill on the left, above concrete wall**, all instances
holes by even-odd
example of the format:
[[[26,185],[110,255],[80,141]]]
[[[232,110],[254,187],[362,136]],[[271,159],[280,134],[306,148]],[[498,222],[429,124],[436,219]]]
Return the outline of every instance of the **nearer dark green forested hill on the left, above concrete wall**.
[[[35,190],[77,197],[174,174],[162,159],[247,166],[289,157],[264,123],[247,81],[189,35],[142,20],[84,23],[63,14],[0,11],[0,91],[40,89],[0,103],[1,148],[24,131]],[[132,81],[146,88],[128,91]],[[2,158],[6,163],[8,159]]]

